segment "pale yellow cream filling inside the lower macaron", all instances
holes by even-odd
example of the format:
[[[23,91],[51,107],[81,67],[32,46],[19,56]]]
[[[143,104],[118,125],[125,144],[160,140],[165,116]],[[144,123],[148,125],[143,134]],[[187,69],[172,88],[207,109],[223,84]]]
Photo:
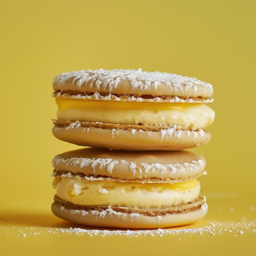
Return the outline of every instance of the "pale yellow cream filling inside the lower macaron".
[[[59,198],[83,206],[171,207],[192,202],[200,193],[198,180],[175,184],[142,184],[88,181],[79,176],[55,177],[53,187]]]

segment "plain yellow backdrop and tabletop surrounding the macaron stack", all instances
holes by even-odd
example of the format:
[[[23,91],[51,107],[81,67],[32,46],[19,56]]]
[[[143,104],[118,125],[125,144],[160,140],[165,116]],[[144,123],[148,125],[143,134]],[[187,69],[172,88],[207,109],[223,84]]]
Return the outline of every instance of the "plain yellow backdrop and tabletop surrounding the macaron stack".
[[[2,0],[0,255],[255,255],[255,9],[254,0]],[[139,67],[214,87],[212,140],[194,149],[207,160],[209,213],[163,236],[76,234],[50,210],[52,158],[79,148],[52,135],[52,79]]]

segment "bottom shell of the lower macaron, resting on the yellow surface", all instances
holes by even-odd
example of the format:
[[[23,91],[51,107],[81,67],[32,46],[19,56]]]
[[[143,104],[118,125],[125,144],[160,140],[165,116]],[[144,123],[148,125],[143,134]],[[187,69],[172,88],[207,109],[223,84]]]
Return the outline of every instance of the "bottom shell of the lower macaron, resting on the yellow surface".
[[[191,224],[203,218],[208,210],[205,198],[175,207],[127,208],[127,207],[85,207],[65,202],[57,196],[52,212],[59,218],[76,224],[125,229],[148,229],[175,227]]]

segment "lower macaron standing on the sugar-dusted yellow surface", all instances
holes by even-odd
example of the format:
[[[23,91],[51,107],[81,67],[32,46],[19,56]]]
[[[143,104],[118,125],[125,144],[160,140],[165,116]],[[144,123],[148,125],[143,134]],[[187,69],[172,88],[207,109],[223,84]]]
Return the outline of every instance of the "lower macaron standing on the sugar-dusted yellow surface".
[[[123,151],[85,147],[53,159],[52,212],[94,227],[164,228],[207,213],[200,196],[202,155],[182,151]]]

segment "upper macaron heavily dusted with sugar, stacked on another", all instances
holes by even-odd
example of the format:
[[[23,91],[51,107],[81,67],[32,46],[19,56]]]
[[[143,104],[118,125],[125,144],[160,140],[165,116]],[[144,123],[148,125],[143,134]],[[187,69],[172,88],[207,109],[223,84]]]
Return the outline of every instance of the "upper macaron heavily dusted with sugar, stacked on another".
[[[116,150],[183,150],[204,145],[215,117],[211,84],[138,70],[82,70],[53,80],[54,136]]]

